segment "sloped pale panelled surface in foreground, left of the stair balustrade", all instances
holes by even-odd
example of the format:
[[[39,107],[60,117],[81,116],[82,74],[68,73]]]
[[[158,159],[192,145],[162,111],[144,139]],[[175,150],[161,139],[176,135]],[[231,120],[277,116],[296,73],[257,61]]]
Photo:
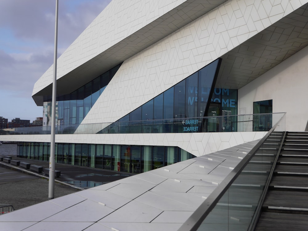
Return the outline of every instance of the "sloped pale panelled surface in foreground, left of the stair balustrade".
[[[177,230],[256,143],[4,214],[1,230]]]

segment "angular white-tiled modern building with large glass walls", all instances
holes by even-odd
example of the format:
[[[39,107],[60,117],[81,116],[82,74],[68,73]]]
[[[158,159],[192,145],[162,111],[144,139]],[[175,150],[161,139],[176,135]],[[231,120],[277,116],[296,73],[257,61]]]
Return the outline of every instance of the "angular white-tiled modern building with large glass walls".
[[[143,173],[258,140],[282,113],[307,131],[307,6],[113,0],[58,58],[56,118],[51,66],[32,94],[43,130],[0,140],[48,161],[55,119],[56,162]]]

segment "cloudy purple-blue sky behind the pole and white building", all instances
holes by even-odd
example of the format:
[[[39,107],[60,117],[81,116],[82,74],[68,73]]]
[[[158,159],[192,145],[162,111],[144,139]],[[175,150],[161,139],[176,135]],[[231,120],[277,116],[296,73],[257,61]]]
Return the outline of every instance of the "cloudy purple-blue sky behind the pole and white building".
[[[59,0],[58,57],[111,0]],[[54,61],[56,0],[0,1],[0,116],[43,116],[34,83]]]

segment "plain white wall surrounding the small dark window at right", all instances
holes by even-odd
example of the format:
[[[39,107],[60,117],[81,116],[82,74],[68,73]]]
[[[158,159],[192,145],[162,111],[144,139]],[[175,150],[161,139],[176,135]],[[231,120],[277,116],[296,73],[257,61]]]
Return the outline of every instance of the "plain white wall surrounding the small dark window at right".
[[[287,113],[287,131],[305,131],[308,121],[307,74],[308,47],[305,47],[239,89],[238,112],[252,114],[253,102],[272,99],[273,113]]]

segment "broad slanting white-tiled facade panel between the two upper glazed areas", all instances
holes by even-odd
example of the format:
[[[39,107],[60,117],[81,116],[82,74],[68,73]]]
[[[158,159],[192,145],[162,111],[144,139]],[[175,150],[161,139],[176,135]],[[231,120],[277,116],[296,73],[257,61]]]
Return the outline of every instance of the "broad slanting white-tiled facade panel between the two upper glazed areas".
[[[120,119],[302,6],[278,5],[227,1],[124,61],[82,123]]]

